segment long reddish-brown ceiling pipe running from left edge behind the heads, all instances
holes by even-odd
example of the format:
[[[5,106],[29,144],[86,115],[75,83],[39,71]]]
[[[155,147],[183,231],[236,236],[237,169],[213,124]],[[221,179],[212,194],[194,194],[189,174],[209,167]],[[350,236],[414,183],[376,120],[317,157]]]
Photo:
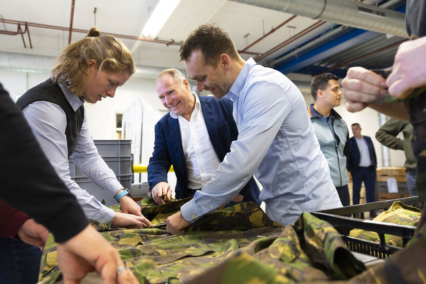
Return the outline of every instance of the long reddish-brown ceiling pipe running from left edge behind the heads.
[[[45,29],[52,29],[52,30],[69,31],[69,28],[67,28],[67,27],[52,26],[52,25],[38,24],[38,23],[27,23],[27,22],[22,22],[22,21],[7,20],[7,19],[3,19],[3,18],[0,18],[0,23],[15,24],[15,25],[24,25],[24,24],[26,24],[27,27],[35,27],[35,28],[45,28]],[[72,31],[73,32],[80,32],[80,33],[86,33],[86,34],[89,32],[89,30],[75,29],[75,28],[72,28]],[[2,32],[0,30],[0,33],[11,34],[13,32],[10,32],[10,31],[3,31]],[[167,46],[169,46],[169,45],[181,46],[182,43],[183,43],[183,41],[176,42],[174,40],[167,41],[167,40],[159,40],[159,39],[150,39],[149,37],[125,35],[125,34],[118,34],[118,33],[109,33],[109,32],[101,32],[101,33],[102,34],[106,34],[106,35],[112,35],[112,36],[115,36],[115,37],[119,37],[120,39],[128,39],[128,40],[135,40],[135,41],[159,43],[159,44],[165,44]],[[14,33],[14,34],[17,34],[17,33]],[[260,52],[251,52],[251,51],[238,51],[238,52],[239,53],[247,53],[247,54],[256,55],[256,56],[258,56],[259,54],[261,54]]]

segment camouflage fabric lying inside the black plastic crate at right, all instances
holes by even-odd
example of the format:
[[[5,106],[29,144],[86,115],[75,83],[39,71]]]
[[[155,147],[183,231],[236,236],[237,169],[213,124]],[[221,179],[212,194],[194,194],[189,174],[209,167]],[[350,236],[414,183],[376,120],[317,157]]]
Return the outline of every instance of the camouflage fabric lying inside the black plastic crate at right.
[[[396,201],[392,204],[389,210],[382,212],[373,221],[387,222],[400,225],[416,226],[420,220],[420,210],[416,207],[408,206],[401,201]],[[379,235],[376,232],[354,229],[349,234],[351,237],[360,238],[369,241],[380,243]],[[393,235],[384,235],[387,244],[403,247],[402,238]]]

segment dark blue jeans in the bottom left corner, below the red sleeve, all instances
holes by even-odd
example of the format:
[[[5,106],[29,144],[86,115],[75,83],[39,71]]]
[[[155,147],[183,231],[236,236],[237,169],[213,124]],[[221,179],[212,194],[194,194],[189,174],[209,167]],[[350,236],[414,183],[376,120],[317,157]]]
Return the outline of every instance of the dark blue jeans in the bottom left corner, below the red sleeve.
[[[34,284],[38,282],[42,251],[21,240],[0,237],[0,283]]]

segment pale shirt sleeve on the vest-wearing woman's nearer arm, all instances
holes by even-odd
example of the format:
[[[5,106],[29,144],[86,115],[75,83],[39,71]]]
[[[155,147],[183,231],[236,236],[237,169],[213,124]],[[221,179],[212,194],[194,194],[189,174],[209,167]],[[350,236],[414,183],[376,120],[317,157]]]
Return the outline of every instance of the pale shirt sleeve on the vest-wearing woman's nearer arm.
[[[86,217],[101,223],[110,222],[114,212],[83,190],[70,177],[65,136],[67,119],[61,107],[45,101],[34,102],[23,109],[23,114],[43,153],[56,174],[76,197]]]

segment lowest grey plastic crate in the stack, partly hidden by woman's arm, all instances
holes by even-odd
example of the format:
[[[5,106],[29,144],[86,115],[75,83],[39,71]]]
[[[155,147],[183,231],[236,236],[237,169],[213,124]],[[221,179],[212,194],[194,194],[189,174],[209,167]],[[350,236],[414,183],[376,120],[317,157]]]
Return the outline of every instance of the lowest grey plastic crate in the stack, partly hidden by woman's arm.
[[[124,188],[131,188],[132,175],[121,175],[117,176],[118,181],[123,185]],[[81,187],[83,190],[87,191],[89,194],[93,195],[99,201],[102,199],[105,200],[106,206],[111,206],[117,204],[117,201],[113,196],[109,195],[106,191],[102,190],[98,185],[92,182],[87,177],[75,177],[73,180]]]

